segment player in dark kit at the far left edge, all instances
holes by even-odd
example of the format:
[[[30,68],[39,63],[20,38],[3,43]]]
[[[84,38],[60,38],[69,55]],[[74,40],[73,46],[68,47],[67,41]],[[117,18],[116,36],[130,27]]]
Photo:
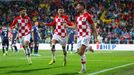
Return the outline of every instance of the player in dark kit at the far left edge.
[[[4,25],[2,27],[2,33],[1,33],[2,51],[3,51],[4,56],[7,55],[8,48],[9,48],[8,32],[9,32],[9,29],[7,28],[7,26]]]

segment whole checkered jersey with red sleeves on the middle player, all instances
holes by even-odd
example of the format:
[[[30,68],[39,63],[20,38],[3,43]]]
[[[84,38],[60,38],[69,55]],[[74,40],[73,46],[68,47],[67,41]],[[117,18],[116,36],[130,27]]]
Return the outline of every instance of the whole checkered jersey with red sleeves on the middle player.
[[[63,22],[66,22],[68,25],[72,25],[71,22],[68,20],[67,15],[62,15],[61,17],[56,16],[54,18],[54,21],[48,23],[47,25],[48,26],[56,25],[56,29],[55,29],[54,33],[64,38],[66,36],[67,32],[66,32],[66,28],[63,26]]]

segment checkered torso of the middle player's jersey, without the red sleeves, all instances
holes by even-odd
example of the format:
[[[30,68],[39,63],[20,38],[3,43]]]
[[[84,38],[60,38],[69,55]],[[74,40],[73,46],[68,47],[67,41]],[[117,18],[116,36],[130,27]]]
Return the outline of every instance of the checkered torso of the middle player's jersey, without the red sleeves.
[[[55,18],[56,22],[56,29],[55,29],[55,34],[65,37],[66,36],[66,28],[62,25],[63,22],[65,22],[65,19],[62,17],[56,17]]]

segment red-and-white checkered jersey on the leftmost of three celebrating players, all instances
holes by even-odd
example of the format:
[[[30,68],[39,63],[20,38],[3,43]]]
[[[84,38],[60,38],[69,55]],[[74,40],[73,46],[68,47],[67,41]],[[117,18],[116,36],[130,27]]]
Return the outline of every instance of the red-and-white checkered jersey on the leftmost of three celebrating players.
[[[12,29],[12,27],[16,27],[15,25],[18,24],[18,35],[19,38],[22,38],[22,36],[26,36],[28,34],[30,34],[30,31],[32,29],[32,24],[30,21],[30,18],[28,16],[25,16],[24,18],[21,18],[21,16],[17,16],[13,23],[11,24],[10,28]]]

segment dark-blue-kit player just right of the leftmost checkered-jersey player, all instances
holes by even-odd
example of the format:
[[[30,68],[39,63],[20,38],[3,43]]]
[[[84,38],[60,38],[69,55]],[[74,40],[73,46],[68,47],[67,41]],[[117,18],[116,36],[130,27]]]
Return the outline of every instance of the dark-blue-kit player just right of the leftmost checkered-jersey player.
[[[38,47],[39,47],[39,41],[41,39],[39,29],[38,29],[39,22],[35,22],[33,29],[32,29],[32,35],[33,35],[33,42],[34,42],[34,55],[39,56],[38,54]]]

